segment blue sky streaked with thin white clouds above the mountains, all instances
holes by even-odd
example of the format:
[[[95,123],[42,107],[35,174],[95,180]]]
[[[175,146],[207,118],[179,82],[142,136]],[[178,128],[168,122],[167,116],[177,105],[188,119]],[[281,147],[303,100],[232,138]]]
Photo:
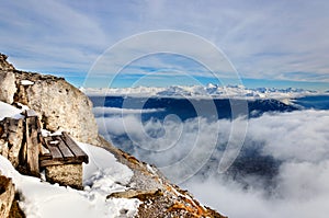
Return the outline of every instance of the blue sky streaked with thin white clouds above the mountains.
[[[184,83],[183,76],[195,83],[238,78],[247,87],[329,90],[328,10],[326,0],[2,1],[0,51],[18,69],[65,77],[78,87],[111,87],[114,77],[116,87],[132,85],[127,77],[135,85],[140,78],[149,87],[174,85]],[[145,35],[151,37],[140,43]],[[126,46],[129,39],[140,44]],[[106,56],[117,46],[125,49],[114,55],[125,58]],[[211,47],[222,54],[209,61],[215,69],[201,61],[211,59]],[[137,56],[128,60],[127,54]],[[102,57],[111,67],[93,71]]]

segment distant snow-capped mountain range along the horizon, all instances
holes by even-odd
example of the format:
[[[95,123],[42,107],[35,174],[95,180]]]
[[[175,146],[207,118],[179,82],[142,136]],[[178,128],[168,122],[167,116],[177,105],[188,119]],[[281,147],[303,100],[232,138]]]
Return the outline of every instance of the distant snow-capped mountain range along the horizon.
[[[275,89],[275,88],[257,88],[248,89],[242,85],[220,87],[217,84],[191,85],[191,87],[169,87],[169,88],[81,88],[89,96],[104,95],[128,95],[128,96],[170,96],[170,97],[243,97],[243,99],[293,99],[311,94],[319,94],[316,91],[303,89]]]

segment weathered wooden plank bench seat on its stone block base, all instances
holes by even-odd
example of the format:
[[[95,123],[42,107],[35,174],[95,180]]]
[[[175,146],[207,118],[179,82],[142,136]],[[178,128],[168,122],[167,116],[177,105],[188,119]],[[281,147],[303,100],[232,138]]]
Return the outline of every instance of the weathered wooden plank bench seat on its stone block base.
[[[39,156],[39,167],[45,169],[50,183],[82,188],[82,162],[88,163],[87,153],[67,134],[44,138],[49,152]]]

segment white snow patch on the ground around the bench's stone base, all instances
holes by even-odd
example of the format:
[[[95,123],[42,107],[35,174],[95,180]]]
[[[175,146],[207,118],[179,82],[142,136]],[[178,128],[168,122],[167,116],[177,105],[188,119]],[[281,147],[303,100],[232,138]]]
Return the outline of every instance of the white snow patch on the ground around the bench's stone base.
[[[52,185],[37,177],[21,175],[11,163],[0,156],[0,171],[12,177],[23,195],[20,206],[27,218],[69,217],[133,217],[140,204],[138,199],[109,198],[114,192],[126,190],[133,172],[118,163],[106,150],[79,144],[90,158],[83,165],[84,191]]]

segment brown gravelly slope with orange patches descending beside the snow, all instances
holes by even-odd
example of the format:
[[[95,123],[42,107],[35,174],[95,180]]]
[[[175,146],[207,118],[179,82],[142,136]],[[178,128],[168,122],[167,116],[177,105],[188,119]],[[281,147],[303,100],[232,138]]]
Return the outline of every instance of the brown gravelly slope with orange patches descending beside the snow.
[[[134,175],[127,185],[131,188],[126,192],[113,193],[107,198],[138,198],[143,204],[139,205],[136,217],[225,218],[217,211],[202,206],[188,191],[171,184],[157,168],[140,162],[107,141],[103,141],[102,145],[121,163],[126,164],[134,171]]]

